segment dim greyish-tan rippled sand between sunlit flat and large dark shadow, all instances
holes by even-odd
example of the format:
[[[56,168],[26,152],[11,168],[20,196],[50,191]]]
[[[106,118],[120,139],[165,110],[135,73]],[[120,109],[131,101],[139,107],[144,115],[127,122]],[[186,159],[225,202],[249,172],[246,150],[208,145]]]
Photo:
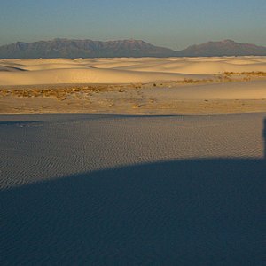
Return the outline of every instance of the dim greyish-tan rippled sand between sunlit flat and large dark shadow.
[[[265,116],[2,115],[1,186],[161,160],[259,159]]]

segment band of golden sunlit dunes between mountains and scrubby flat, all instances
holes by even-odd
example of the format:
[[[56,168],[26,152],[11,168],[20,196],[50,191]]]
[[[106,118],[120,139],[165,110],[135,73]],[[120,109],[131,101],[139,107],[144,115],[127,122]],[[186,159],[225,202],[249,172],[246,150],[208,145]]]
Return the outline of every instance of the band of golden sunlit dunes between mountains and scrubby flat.
[[[266,72],[266,57],[1,59],[0,85],[180,81],[253,71]]]

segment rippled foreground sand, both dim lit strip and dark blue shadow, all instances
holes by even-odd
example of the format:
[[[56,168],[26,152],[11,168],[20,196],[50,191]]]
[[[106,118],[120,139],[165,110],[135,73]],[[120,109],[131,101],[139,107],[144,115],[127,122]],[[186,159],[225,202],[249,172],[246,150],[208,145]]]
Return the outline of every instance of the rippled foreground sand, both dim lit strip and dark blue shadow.
[[[262,265],[265,117],[2,115],[0,264]]]

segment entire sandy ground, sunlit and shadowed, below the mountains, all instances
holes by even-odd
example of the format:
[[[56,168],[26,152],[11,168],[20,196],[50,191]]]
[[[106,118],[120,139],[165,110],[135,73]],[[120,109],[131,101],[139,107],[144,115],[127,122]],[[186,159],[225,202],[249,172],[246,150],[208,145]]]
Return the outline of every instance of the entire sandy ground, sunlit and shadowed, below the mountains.
[[[0,60],[0,264],[261,265],[265,73],[265,57]]]

